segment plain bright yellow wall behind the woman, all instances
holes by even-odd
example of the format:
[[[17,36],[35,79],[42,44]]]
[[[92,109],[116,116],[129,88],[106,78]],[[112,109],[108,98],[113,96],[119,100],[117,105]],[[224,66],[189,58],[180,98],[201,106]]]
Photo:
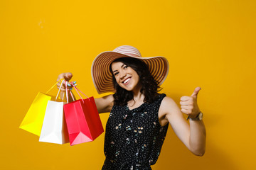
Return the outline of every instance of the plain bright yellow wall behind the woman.
[[[18,126],[38,91],[62,72],[99,97],[92,61],[119,45],[169,60],[162,92],[176,103],[202,88],[206,154],[194,156],[169,127],[152,169],[254,169],[255,7],[253,0],[1,0],[0,169],[102,167],[104,134],[70,147],[38,142]],[[108,116],[100,115],[104,128]]]

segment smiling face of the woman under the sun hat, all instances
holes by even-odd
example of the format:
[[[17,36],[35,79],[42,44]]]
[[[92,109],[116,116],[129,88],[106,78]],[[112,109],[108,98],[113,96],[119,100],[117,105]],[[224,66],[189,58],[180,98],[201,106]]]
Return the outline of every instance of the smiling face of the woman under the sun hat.
[[[117,84],[127,91],[133,91],[139,88],[139,75],[132,67],[127,66],[122,62],[113,62],[112,72],[117,81]]]

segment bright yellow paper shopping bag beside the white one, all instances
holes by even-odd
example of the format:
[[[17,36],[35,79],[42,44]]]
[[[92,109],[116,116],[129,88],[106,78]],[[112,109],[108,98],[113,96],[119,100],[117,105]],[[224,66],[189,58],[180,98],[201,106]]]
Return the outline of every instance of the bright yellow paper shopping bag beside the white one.
[[[60,79],[59,81],[62,81]],[[58,82],[59,82],[58,81]],[[55,83],[47,92],[46,94],[39,92],[36,98],[34,99],[33,103],[31,104],[28,112],[26,113],[25,117],[22,120],[21,125],[19,128],[31,132],[35,135],[40,135],[41,128],[43,125],[43,118],[46,113],[46,106],[48,101],[52,101],[55,99],[54,96],[50,96],[48,92],[53,89],[53,87],[58,84]]]

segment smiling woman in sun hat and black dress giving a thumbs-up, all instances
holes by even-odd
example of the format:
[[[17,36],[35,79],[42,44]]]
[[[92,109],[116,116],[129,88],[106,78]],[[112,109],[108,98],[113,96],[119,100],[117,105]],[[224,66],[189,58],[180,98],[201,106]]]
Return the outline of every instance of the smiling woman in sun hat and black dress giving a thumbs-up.
[[[192,96],[181,97],[181,110],[159,85],[169,71],[164,57],[141,57],[135,47],[124,45],[102,52],[92,63],[92,79],[99,94],[95,98],[99,113],[109,113],[105,132],[105,162],[102,169],[151,169],[166,136],[168,125],[188,149],[203,156],[206,129],[198,108],[196,88]],[[70,81],[71,73],[58,79]],[[61,87],[63,91],[65,87]],[[181,111],[188,115],[190,125]]]

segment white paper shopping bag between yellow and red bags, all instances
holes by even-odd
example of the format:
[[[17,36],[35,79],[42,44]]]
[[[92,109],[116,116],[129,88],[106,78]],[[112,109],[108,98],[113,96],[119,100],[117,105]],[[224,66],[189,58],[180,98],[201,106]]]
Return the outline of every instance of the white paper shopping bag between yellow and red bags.
[[[62,86],[63,81],[61,81],[60,86]],[[56,144],[65,144],[69,142],[68,129],[65,123],[63,112],[64,102],[57,101],[59,94],[60,89],[55,98],[55,101],[48,101],[39,142],[49,142]]]

